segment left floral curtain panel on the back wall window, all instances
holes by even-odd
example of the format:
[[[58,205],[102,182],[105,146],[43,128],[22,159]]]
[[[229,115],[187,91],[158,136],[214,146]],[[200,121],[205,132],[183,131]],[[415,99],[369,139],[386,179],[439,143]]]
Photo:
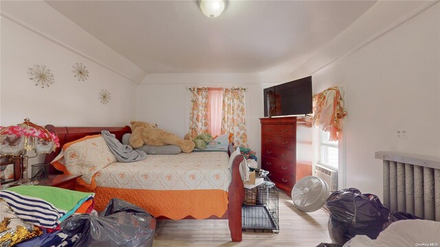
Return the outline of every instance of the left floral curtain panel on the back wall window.
[[[190,111],[190,135],[208,132],[208,88],[192,88]]]

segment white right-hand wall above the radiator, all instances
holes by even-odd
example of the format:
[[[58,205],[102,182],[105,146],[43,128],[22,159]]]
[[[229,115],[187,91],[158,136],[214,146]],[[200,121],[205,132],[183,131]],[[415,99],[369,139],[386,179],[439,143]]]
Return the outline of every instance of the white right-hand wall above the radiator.
[[[382,197],[377,151],[440,155],[439,5],[313,74],[316,93],[344,86],[347,187]]]

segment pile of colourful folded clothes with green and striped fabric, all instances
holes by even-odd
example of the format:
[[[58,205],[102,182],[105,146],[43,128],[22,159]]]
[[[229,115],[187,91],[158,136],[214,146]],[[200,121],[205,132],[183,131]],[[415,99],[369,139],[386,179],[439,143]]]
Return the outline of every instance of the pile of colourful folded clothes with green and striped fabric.
[[[91,213],[94,196],[33,185],[1,190],[0,221],[5,227],[0,227],[0,246],[61,246],[63,242],[74,242],[77,237],[63,234],[60,224],[72,215]]]

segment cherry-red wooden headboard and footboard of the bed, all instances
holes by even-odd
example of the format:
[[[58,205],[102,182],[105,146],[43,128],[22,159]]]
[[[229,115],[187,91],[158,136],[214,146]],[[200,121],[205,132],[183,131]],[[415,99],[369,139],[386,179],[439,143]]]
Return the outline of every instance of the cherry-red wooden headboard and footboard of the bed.
[[[131,133],[129,126],[124,127],[55,127],[53,125],[47,125],[45,128],[51,132],[54,132],[60,139],[60,145],[63,147],[65,143],[75,141],[87,135],[100,134],[102,130],[109,130],[109,132],[115,134],[118,140],[122,140],[122,135],[125,133]],[[50,163],[61,152],[61,148],[57,148],[55,152],[47,154],[45,162]],[[232,180],[228,188],[228,211],[223,217],[210,217],[209,219],[228,219],[229,228],[231,232],[231,239],[233,242],[241,242],[241,204],[244,199],[244,187],[241,180],[239,165],[243,161],[243,156],[239,155],[234,158],[232,164]],[[50,166],[50,173],[59,173],[54,167]],[[191,217],[188,217],[191,218]]]

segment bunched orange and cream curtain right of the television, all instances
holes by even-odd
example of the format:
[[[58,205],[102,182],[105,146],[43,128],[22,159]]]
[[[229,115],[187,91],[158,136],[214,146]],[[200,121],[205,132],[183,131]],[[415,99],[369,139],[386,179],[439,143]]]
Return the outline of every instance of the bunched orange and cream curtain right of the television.
[[[314,95],[314,126],[330,132],[329,141],[338,141],[342,131],[344,117],[347,111],[344,107],[344,92],[339,86],[333,86]]]

